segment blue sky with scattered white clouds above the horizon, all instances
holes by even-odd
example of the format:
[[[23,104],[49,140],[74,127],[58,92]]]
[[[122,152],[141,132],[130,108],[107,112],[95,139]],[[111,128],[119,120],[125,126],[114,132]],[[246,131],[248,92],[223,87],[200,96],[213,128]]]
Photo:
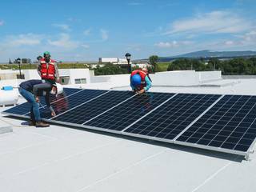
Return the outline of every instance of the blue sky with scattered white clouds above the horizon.
[[[0,62],[256,50],[256,0],[2,0]]]

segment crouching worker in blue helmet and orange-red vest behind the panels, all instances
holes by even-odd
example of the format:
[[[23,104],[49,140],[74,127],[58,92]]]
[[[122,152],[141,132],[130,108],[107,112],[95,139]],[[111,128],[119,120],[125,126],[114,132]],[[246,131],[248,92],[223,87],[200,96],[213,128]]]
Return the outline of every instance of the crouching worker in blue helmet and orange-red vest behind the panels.
[[[130,86],[134,93],[143,94],[151,87],[151,79],[147,70],[134,70],[130,74]]]

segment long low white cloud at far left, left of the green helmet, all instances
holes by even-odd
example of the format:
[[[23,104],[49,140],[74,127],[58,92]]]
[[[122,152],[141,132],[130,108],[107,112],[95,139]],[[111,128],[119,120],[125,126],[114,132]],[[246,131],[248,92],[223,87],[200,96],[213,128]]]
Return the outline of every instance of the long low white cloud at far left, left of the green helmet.
[[[9,35],[5,39],[5,44],[8,47],[17,46],[34,46],[42,42],[43,35],[41,34],[18,34]]]

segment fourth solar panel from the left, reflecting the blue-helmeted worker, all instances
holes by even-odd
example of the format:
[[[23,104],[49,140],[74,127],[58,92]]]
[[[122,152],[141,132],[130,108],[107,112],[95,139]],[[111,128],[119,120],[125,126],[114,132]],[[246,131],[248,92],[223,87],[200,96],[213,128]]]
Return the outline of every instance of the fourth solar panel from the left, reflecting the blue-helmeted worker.
[[[136,95],[121,105],[114,107],[105,114],[87,122],[86,126],[100,127],[107,130],[124,130],[126,126],[142,118],[143,115],[154,110],[162,102],[174,94],[146,93]]]

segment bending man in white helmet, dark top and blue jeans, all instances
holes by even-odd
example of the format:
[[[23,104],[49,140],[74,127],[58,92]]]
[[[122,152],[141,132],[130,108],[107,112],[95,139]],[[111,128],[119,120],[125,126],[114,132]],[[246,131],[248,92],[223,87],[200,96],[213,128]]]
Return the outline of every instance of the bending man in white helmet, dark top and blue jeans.
[[[52,85],[49,82],[42,82],[42,80],[29,80],[22,82],[19,85],[18,91],[24,98],[26,98],[27,102],[30,102],[31,105],[29,126],[50,126],[46,122],[42,122],[39,111],[39,97],[43,95],[45,96],[46,106],[48,106],[51,116],[54,117],[56,114],[54,108],[50,106],[50,94],[62,94],[62,86],[58,83]]]

